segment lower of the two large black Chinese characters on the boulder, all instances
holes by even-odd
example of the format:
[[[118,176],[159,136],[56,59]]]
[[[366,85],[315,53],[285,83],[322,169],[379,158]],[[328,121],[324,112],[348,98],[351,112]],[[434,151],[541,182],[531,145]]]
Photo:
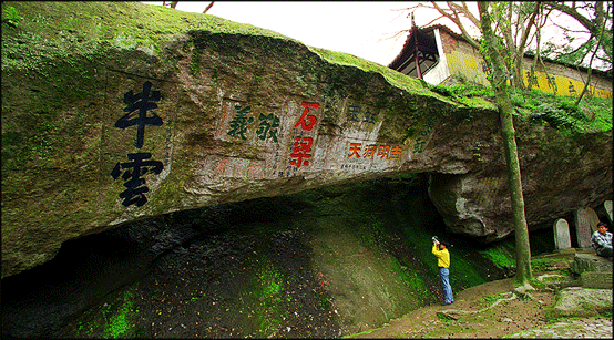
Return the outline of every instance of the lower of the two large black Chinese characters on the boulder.
[[[117,179],[121,175],[122,178],[126,181],[126,183],[124,183],[126,189],[120,194],[120,198],[124,199],[122,202],[124,206],[127,207],[130,205],[136,204],[137,207],[141,207],[145,203],[147,203],[145,193],[147,193],[150,188],[145,186],[145,178],[142,178],[141,176],[150,172],[153,172],[157,175],[162,172],[162,169],[164,169],[164,164],[162,162],[145,161],[150,159],[151,157],[152,154],[150,153],[127,154],[127,158],[131,162],[117,162],[117,164],[115,164],[115,167],[111,172],[111,176],[113,176],[113,179]],[[124,169],[123,175],[122,169]]]

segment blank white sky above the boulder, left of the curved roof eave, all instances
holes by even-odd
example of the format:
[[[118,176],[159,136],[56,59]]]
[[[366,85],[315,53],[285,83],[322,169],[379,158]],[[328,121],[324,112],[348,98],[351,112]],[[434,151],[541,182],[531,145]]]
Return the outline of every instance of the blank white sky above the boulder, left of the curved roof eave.
[[[162,1],[143,1],[162,4]],[[168,1],[170,2],[170,1]],[[198,12],[209,1],[178,1],[176,9]],[[345,52],[388,65],[401,51],[411,27],[405,1],[215,1],[207,14],[276,31],[303,43]],[[428,23],[417,18],[418,25]]]

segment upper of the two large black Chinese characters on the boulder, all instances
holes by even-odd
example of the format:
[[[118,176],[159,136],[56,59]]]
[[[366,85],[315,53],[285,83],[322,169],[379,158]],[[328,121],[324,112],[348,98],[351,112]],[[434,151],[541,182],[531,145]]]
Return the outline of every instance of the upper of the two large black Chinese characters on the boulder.
[[[147,111],[157,109],[155,102],[160,101],[160,91],[151,91],[152,83],[146,81],[143,84],[143,91],[134,94],[132,90],[124,94],[124,103],[129,106],[124,107],[124,112],[127,112],[117,122],[115,127],[126,128],[129,126],[137,125],[136,130],[136,148],[143,147],[143,138],[145,136],[145,125],[161,126],[162,119],[152,112],[153,116],[147,116]],[[132,116],[132,113],[139,111],[137,116]]]

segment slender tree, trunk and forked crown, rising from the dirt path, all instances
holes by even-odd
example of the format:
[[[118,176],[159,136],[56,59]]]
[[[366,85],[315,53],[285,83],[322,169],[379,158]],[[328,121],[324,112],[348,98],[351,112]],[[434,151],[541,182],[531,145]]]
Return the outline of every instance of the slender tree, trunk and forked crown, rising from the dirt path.
[[[508,93],[508,75],[504,63],[504,58],[508,56],[508,71],[513,68],[519,68],[514,65],[511,60],[516,55],[518,47],[525,47],[526,40],[529,39],[530,25],[534,25],[535,17],[539,12],[535,8],[522,7],[522,4],[516,4],[519,7],[513,7],[512,4],[493,4],[490,2],[478,2],[478,10],[480,18],[473,16],[470,11],[468,4],[462,1],[460,3],[447,2],[448,8],[441,8],[437,2],[432,1],[431,6],[417,4],[410,9],[418,9],[420,7],[433,8],[436,9],[441,18],[448,18],[451,20],[462,32],[462,37],[469,41],[471,45],[478,49],[484,60],[491,66],[491,74],[489,75],[489,81],[492,89],[495,93],[497,107],[499,109],[499,116],[501,121],[501,134],[503,137],[503,145],[505,148],[505,161],[508,163],[508,176],[510,183],[510,196],[512,199],[512,215],[514,223],[514,235],[515,235],[515,250],[516,250],[516,275],[515,279],[519,284],[531,287],[529,281],[533,279],[533,274],[531,270],[531,250],[529,245],[529,229],[526,226],[526,218],[524,215],[524,198],[522,195],[522,182],[520,174],[520,162],[518,156],[518,146],[515,142],[515,131],[513,125],[513,105]],[[512,11],[514,8],[523,8],[526,16],[519,16],[516,22],[528,22],[524,25],[525,31],[515,30],[515,32],[521,34],[515,34],[518,38],[520,35],[519,44],[515,44],[513,30],[509,27],[509,22],[503,22],[513,18]],[[497,21],[493,20],[493,17]],[[436,19],[436,20],[438,20]],[[463,20],[464,19],[464,22]],[[436,20],[431,21],[434,22]],[[481,31],[483,39],[478,41],[469,34],[469,28],[465,27],[467,20],[469,23],[472,23],[474,28]],[[429,23],[430,24],[430,23]],[[506,38],[501,38],[495,35],[494,31],[499,30],[503,34],[508,34]],[[513,41],[513,43],[512,43]],[[508,44],[505,44],[508,43]],[[515,49],[514,49],[515,47]],[[522,56],[522,54],[520,54]],[[511,58],[510,58],[511,56]],[[522,60],[522,59],[520,59]],[[519,68],[520,69],[520,68]],[[522,80],[522,78],[520,78]]]

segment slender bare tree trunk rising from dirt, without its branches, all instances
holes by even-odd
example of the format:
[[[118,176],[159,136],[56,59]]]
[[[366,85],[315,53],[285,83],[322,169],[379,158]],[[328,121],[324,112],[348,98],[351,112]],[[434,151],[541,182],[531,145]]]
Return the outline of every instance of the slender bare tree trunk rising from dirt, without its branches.
[[[488,13],[488,2],[478,2],[480,10],[480,24],[485,43],[484,59],[490,60],[492,76],[490,79],[494,89],[497,107],[501,121],[501,135],[505,146],[505,159],[508,162],[508,176],[510,179],[510,195],[512,198],[512,215],[515,234],[516,275],[519,284],[525,286],[533,279],[531,270],[531,249],[529,247],[529,229],[524,217],[524,198],[522,197],[522,182],[520,176],[520,162],[515,142],[513,125],[513,105],[508,94],[503,63],[499,51],[499,43],[492,32],[492,21]]]

